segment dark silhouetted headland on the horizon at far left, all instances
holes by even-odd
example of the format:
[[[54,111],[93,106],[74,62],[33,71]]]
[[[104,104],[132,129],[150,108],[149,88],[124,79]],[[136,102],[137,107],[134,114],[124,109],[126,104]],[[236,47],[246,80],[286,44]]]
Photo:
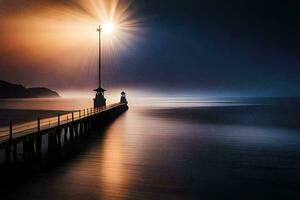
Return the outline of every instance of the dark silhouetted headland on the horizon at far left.
[[[0,80],[0,98],[55,98],[60,97],[53,90],[44,87],[26,88]]]

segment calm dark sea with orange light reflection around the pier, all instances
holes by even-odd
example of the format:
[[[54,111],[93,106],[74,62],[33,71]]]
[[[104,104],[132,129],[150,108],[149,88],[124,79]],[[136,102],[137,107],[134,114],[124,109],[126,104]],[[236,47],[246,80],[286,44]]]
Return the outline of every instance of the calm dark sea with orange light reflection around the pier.
[[[131,102],[107,129],[95,131],[76,156],[22,180],[5,197],[299,199],[300,113],[295,101],[145,101]],[[24,106],[10,103],[6,106]],[[66,104],[26,103],[33,106],[26,109],[45,110]],[[78,108],[68,109],[89,103],[82,100]]]

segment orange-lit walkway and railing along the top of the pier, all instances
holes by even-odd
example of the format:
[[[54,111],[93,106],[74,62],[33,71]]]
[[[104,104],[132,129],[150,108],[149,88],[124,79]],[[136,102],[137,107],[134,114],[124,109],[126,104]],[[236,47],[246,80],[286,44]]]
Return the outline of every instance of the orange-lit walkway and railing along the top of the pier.
[[[99,114],[120,105],[120,103],[116,103],[99,108],[88,108],[66,114],[58,114],[57,116],[49,118],[38,118],[30,122],[10,123],[8,126],[0,127],[0,144],[25,135],[45,131],[51,128],[72,123],[77,120],[82,120],[89,116]]]

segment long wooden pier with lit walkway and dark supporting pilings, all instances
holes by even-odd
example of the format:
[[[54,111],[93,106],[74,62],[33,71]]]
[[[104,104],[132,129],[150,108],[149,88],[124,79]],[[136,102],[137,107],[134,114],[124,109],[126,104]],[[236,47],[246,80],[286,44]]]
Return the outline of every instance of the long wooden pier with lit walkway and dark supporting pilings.
[[[5,150],[6,163],[17,161],[18,153],[22,153],[24,160],[39,158],[42,149],[53,152],[127,109],[127,103],[117,103],[31,122],[10,123],[0,127],[0,150]]]

